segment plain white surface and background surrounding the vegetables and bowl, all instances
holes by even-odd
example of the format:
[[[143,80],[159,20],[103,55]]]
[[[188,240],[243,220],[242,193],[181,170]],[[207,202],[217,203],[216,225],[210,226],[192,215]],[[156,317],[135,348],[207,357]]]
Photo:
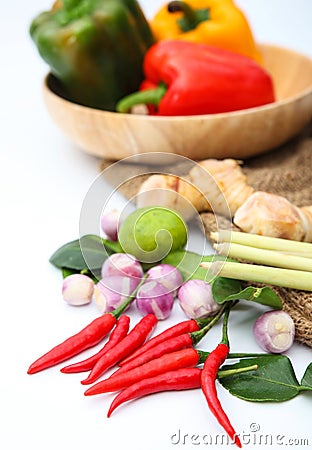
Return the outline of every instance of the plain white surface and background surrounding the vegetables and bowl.
[[[144,398],[120,408],[108,420],[112,396],[85,398],[81,375],[63,375],[60,367],[26,374],[35,358],[97,315],[94,306],[73,308],[63,302],[61,275],[48,262],[56,248],[78,237],[81,204],[98,174],[98,161],[61,135],[43,105],[41,83],[47,67],[29,39],[28,27],[50,4],[11,0],[1,9],[0,447],[226,448],[230,444],[220,443],[223,430],[199,390]],[[149,14],[161,4],[142,1]],[[248,15],[259,41],[312,56],[310,0],[240,0],[237,4]],[[233,313],[232,351],[257,351],[250,331],[257,313],[243,306]],[[182,318],[176,308],[159,330]],[[219,336],[220,330],[213,330],[200,348],[212,349]],[[300,379],[311,361],[311,350],[295,345],[288,355]],[[307,448],[307,440],[312,445],[311,395],[281,404],[248,403],[225,390],[220,390],[220,396],[237,431],[250,435],[249,443],[248,436],[244,440],[245,448]],[[260,430],[250,431],[252,424]],[[179,442],[176,436],[171,440],[178,430]],[[197,440],[191,440],[196,434]],[[206,434],[219,444],[205,444]],[[284,437],[278,440],[278,435]],[[305,441],[300,444],[301,439]]]

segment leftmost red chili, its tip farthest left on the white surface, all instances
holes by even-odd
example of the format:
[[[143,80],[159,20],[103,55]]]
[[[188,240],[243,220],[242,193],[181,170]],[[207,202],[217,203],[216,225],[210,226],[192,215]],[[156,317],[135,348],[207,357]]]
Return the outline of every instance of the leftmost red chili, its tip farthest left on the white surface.
[[[33,374],[47,369],[48,367],[55,366],[56,364],[81,353],[83,350],[93,347],[104,339],[115,324],[116,317],[111,313],[97,317],[77,334],[69,337],[37,359],[31,364],[27,373]]]

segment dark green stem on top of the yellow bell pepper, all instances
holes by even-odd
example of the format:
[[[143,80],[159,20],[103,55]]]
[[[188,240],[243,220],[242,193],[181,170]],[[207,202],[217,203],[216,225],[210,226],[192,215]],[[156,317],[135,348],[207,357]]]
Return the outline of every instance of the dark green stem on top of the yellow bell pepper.
[[[174,0],[168,3],[169,13],[182,12],[183,16],[177,20],[182,31],[194,30],[201,22],[209,20],[209,9],[194,9],[184,1]]]

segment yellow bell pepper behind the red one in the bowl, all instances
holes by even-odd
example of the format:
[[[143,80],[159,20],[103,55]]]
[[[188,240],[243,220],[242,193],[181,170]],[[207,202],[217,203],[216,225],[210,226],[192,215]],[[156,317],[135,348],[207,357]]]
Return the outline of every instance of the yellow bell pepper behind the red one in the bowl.
[[[165,4],[150,21],[157,41],[186,40],[225,48],[261,63],[249,23],[232,0],[187,0]]]

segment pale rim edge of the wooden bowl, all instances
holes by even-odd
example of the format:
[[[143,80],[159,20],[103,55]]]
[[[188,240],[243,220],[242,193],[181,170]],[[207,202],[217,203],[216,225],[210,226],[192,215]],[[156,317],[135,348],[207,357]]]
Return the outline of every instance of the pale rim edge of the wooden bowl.
[[[310,58],[309,56],[297,52],[293,49],[287,48],[287,47],[281,47],[281,46],[277,46],[277,45],[270,45],[270,44],[261,44],[259,45],[260,48],[272,48],[275,50],[282,50],[282,51],[287,51],[289,53],[293,53],[297,56],[301,56],[302,58],[306,59],[307,61],[309,61],[312,64],[312,58]],[[183,121],[183,120],[188,120],[188,121],[205,121],[208,119],[222,119],[222,118],[229,118],[229,117],[236,117],[236,116],[242,116],[242,115],[250,115],[250,114],[256,114],[259,113],[260,111],[266,111],[266,110],[271,110],[271,109],[275,109],[275,108],[279,108],[282,107],[284,105],[287,105],[289,103],[295,102],[300,100],[303,97],[308,96],[309,94],[312,93],[312,82],[311,85],[306,87],[304,90],[302,90],[301,92],[291,96],[291,97],[287,97],[285,99],[280,99],[280,100],[276,100],[272,103],[268,103],[266,105],[262,105],[262,106],[256,106],[256,107],[252,107],[252,108],[246,108],[246,109],[240,109],[240,110],[236,110],[236,111],[229,111],[229,112],[223,112],[223,113],[214,113],[214,114],[198,114],[198,115],[185,115],[185,116],[153,116],[153,115],[147,115],[147,114],[131,114],[131,113],[119,113],[117,111],[106,111],[104,109],[97,109],[97,108],[92,108],[90,106],[85,106],[85,105],[81,105],[79,103],[75,103],[72,102],[71,100],[68,100],[66,98],[64,98],[63,96],[59,95],[57,92],[55,92],[49,83],[49,80],[53,77],[53,74],[51,72],[48,72],[45,77],[44,77],[44,81],[43,81],[43,89],[51,96],[54,96],[55,98],[57,98],[59,101],[64,102],[65,104],[70,105],[71,108],[75,108],[77,110],[83,110],[85,112],[91,112],[92,114],[100,114],[100,115],[107,115],[107,116],[112,116],[112,117],[127,117],[129,120],[148,120],[148,121],[156,121],[156,122],[162,122],[162,121],[168,121],[170,120],[171,122],[179,122],[179,121]]]

